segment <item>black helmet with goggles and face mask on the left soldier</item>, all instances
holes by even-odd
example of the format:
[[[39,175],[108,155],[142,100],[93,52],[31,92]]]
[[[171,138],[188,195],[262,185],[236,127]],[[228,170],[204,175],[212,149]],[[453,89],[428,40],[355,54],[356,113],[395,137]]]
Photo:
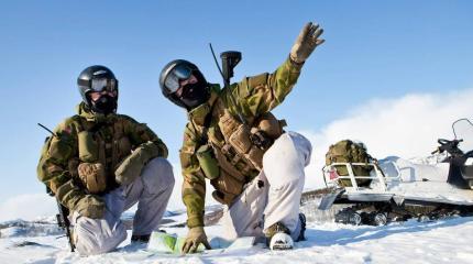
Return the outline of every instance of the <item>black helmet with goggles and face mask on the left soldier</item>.
[[[94,65],[84,69],[79,77],[77,77],[77,87],[79,88],[80,96],[82,97],[84,102],[94,111],[110,113],[117,110],[117,100],[118,100],[118,79],[113,75],[113,73],[101,65]],[[103,97],[103,101],[99,106],[98,103],[92,103],[89,97],[90,91],[114,91],[116,97],[108,98]]]

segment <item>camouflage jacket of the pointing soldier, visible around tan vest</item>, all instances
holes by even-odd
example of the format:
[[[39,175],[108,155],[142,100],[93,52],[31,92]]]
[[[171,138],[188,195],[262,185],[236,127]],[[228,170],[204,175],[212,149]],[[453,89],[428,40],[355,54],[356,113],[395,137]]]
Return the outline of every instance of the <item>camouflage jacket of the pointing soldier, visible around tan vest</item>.
[[[220,86],[211,85],[209,101],[188,113],[189,122],[185,129],[184,143],[179,156],[184,176],[183,200],[187,208],[187,226],[189,228],[204,226],[205,179],[210,178],[204,173],[201,164],[199,164],[197,151],[206,139],[217,145],[217,147],[213,147],[213,152],[219,152],[216,148],[218,150],[228,141],[222,135],[222,125],[219,125],[221,121],[219,119],[222,117],[221,112],[228,111],[230,114],[237,117],[239,109],[245,122],[252,124],[260,116],[270,112],[283,102],[296,84],[301,66],[287,58],[274,73],[245,77],[242,81],[232,84],[229,89],[220,89]],[[233,98],[239,105],[238,108],[232,103],[230,92],[233,94]],[[208,114],[211,114],[211,121],[208,128],[205,128],[205,120]],[[234,198],[241,194],[244,184],[254,178],[260,170],[255,169],[254,166],[245,166],[241,162],[223,165],[221,160],[219,160],[218,166],[220,169],[222,166],[227,167],[230,174],[232,174],[231,170],[234,174],[243,172],[243,177],[240,177],[238,180],[234,180],[235,177],[227,177],[231,179],[229,182],[222,179],[226,175],[220,175],[217,179],[211,179],[210,183],[216,188],[216,191],[230,193],[232,198]],[[245,167],[250,168],[243,169]],[[233,185],[239,185],[239,187]],[[215,194],[213,197],[216,198]],[[228,200],[222,204],[229,205],[230,202],[231,200]]]

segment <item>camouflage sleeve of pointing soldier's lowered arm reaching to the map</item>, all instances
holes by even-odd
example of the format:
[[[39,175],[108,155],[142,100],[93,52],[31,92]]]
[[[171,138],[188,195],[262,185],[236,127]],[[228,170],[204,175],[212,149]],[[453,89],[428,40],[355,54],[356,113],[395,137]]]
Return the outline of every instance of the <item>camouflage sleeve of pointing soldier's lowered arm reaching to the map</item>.
[[[188,123],[184,133],[184,143],[179,152],[183,169],[183,201],[187,208],[187,227],[204,227],[206,199],[206,179],[196,157],[198,139],[191,124]]]

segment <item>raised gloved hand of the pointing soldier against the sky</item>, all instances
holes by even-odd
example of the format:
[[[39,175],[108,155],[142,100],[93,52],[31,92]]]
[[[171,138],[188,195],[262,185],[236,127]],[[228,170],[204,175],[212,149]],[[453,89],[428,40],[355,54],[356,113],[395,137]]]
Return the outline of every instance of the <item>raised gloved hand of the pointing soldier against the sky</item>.
[[[324,42],[319,38],[323,30],[312,22],[307,23],[290,50],[290,58],[298,64],[306,62],[316,47]]]

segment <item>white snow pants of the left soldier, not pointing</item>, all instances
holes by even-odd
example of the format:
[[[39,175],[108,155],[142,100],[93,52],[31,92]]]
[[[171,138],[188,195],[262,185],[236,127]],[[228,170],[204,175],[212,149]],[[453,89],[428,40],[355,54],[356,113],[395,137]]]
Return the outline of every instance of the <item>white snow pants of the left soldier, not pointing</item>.
[[[127,239],[127,228],[120,216],[136,202],[133,234],[150,234],[160,224],[173,187],[170,163],[163,157],[150,161],[134,182],[102,196],[107,206],[103,219],[86,218],[74,212],[72,222],[77,252],[92,255],[114,250]]]

